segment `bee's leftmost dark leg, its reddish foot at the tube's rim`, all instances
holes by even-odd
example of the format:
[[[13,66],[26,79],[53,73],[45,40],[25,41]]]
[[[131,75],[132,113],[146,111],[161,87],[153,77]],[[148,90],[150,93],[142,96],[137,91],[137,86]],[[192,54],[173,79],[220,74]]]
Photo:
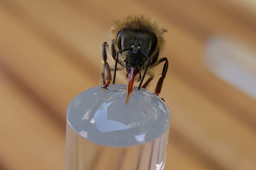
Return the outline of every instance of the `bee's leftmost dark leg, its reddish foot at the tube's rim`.
[[[104,90],[108,90],[108,86],[110,85],[110,81],[112,80],[111,77],[111,71],[107,62],[107,49],[106,46],[108,46],[107,42],[104,42],[102,44],[102,63],[104,64],[103,67],[103,72],[102,72],[102,83],[105,84],[105,86],[103,86],[103,91]],[[107,83],[106,83],[107,82]]]

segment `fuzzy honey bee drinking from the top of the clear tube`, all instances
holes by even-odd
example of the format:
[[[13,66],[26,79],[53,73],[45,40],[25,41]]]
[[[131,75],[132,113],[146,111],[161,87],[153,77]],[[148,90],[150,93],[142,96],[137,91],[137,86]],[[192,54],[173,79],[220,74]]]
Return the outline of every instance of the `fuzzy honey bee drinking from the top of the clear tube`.
[[[162,29],[158,23],[145,15],[127,15],[115,22],[109,31],[109,42],[102,45],[102,88],[107,89],[112,80],[111,72],[114,72],[113,84],[115,84],[116,71],[126,68],[125,76],[128,79],[126,104],[133,90],[134,81],[140,82],[140,88],[146,88],[154,78],[153,68],[165,62],[162,77],[159,78],[154,93],[159,95],[163,80],[168,69],[167,58],[160,58],[159,53],[165,44]],[[115,64],[109,66],[107,60],[113,60]],[[141,76],[142,75],[142,76]],[[149,78],[142,85],[145,76]]]

